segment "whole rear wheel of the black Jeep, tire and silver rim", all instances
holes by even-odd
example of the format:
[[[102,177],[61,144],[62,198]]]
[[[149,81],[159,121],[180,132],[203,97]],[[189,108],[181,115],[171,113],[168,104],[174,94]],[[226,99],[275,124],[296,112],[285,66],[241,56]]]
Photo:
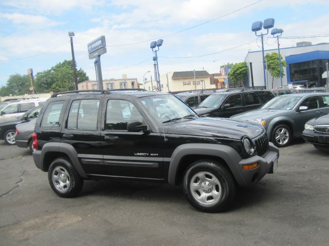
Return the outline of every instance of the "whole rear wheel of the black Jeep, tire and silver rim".
[[[51,162],[48,180],[51,189],[64,198],[77,196],[83,186],[83,179],[66,158],[57,158]]]

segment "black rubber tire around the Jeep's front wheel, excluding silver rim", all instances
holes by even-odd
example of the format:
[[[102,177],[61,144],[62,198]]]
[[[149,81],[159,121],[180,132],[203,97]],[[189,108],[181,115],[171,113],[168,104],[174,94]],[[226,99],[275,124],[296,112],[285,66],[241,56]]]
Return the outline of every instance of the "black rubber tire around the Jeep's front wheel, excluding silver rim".
[[[210,206],[203,206],[198,201],[196,201],[189,189],[191,178],[194,176],[194,174],[203,171],[211,173],[221,182],[221,197],[218,201],[211,204]],[[235,182],[230,171],[220,163],[211,160],[200,160],[192,163],[192,165],[185,172],[183,179],[183,189],[188,201],[194,208],[203,212],[220,212],[225,210],[232,202],[235,195]]]

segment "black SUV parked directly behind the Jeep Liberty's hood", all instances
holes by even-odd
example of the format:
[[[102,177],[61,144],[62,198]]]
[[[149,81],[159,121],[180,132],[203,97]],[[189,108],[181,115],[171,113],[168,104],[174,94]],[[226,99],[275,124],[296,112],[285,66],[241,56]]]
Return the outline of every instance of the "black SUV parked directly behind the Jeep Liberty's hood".
[[[275,95],[269,90],[232,90],[216,92],[207,97],[194,111],[209,117],[230,117],[258,109]]]

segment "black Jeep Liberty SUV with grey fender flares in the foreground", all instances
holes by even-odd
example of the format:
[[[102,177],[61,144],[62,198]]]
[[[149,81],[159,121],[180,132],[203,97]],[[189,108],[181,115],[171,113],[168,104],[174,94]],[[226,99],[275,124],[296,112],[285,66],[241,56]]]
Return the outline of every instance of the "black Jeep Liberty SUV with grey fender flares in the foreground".
[[[78,195],[84,179],[182,184],[193,207],[221,211],[236,184],[272,173],[279,150],[263,127],[200,117],[174,95],[148,91],[72,91],[41,109],[33,133],[36,167],[53,191]]]

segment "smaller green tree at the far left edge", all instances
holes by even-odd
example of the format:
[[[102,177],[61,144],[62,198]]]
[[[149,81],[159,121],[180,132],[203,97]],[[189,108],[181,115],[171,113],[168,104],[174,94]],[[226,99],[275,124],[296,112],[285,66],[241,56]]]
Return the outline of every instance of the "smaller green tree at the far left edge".
[[[7,84],[0,89],[1,96],[23,95],[29,92],[29,76],[21,74],[12,74],[7,80]]]

